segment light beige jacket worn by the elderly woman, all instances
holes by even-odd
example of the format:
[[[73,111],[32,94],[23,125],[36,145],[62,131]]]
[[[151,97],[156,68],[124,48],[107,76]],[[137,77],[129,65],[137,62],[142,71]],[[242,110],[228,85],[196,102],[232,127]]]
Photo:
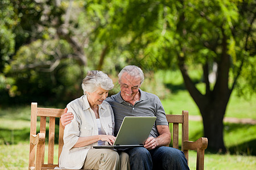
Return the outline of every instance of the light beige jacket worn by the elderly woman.
[[[92,145],[79,148],[73,148],[73,146],[76,144],[79,137],[98,135],[96,117],[85,95],[71,101],[71,103],[67,105],[67,108],[68,112],[73,113],[74,118],[70,124],[65,126],[63,137],[64,146],[59,159],[59,167],[81,169],[84,165],[88,150],[98,145],[98,143],[96,142]],[[98,112],[100,114],[101,125],[106,134],[114,135],[114,114],[110,104],[103,101],[101,105],[98,105]],[[107,142],[106,145],[108,145]]]

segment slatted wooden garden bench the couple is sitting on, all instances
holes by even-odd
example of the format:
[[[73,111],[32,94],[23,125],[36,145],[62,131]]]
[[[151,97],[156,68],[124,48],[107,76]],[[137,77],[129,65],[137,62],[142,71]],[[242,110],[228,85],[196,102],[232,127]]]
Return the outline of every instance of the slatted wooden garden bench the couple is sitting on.
[[[54,169],[58,164],[53,163],[55,119],[64,113],[64,109],[38,108],[37,103],[31,103],[31,126],[30,126],[30,155],[28,169]],[[40,131],[36,132],[37,119],[40,118]],[[49,118],[47,118],[49,117]],[[179,148],[179,124],[182,124],[181,150],[188,160],[188,150],[197,150],[197,169],[204,169],[204,150],[207,148],[207,138],[200,138],[196,142],[188,141],[188,112],[182,115],[167,115],[167,121],[173,124],[172,141],[173,147]],[[46,147],[46,126],[49,126],[48,147]],[[63,147],[64,128],[59,122],[58,160]],[[48,148],[48,160],[44,163],[44,154]]]

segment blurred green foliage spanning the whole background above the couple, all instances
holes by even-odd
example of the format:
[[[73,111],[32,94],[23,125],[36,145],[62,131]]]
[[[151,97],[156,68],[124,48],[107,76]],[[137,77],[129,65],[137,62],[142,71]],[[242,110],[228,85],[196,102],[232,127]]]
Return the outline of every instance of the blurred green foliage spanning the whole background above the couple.
[[[255,91],[253,1],[5,0],[0,6],[0,100],[6,103],[32,96],[70,101],[81,94],[86,70],[101,69],[116,80],[123,66],[133,64],[148,76],[176,70],[179,56],[189,70],[207,62],[211,67],[221,57],[225,36],[230,82],[243,63],[237,87],[240,94]],[[199,71],[193,81],[202,75]],[[144,90],[164,91],[163,84],[149,79]]]

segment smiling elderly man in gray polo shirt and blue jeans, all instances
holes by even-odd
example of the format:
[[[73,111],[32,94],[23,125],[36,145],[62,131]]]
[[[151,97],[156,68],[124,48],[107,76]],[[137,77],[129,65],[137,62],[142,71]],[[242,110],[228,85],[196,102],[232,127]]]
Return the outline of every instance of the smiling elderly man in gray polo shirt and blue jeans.
[[[144,81],[143,71],[137,66],[126,66],[118,78],[120,91],[105,100],[114,112],[114,135],[117,135],[125,116],[156,116],[144,147],[125,150],[130,155],[131,169],[189,169],[183,152],[166,147],[171,141],[166,113],[158,96],[139,89]],[[61,117],[64,126],[71,120],[71,113]]]

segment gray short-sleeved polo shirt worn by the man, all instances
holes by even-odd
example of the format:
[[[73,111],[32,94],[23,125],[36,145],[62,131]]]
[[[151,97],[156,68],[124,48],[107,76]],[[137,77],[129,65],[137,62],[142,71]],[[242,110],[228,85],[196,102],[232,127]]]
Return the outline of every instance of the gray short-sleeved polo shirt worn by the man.
[[[115,136],[125,116],[156,116],[155,124],[150,132],[150,136],[155,138],[159,135],[156,125],[168,125],[166,113],[159,97],[142,90],[139,92],[141,92],[141,98],[134,105],[123,100],[120,92],[106,99],[114,112]]]

